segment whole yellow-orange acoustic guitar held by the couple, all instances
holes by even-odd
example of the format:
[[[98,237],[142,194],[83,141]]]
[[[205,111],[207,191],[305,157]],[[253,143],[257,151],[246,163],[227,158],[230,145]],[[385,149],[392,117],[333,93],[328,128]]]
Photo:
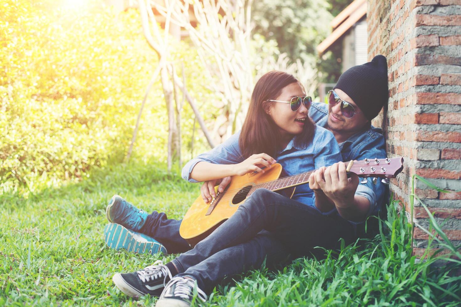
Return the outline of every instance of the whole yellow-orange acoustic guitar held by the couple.
[[[377,183],[381,178],[384,184],[389,184],[389,178],[395,178],[403,169],[403,158],[385,158],[374,160],[353,160],[347,163],[348,174],[355,173],[362,177],[361,183],[366,183],[366,177],[373,177]],[[248,173],[243,176],[232,176],[231,183],[225,191],[216,192],[211,203],[205,203],[198,197],[190,206],[179,228],[179,234],[191,247],[210,235],[219,225],[234,214],[237,208],[251,196],[254,191],[265,188],[278,191],[287,197],[292,197],[296,185],[309,182],[309,176],[315,170],[292,176],[283,176],[282,166],[274,163],[271,168],[265,168],[264,173]],[[217,187],[216,187],[217,188]]]

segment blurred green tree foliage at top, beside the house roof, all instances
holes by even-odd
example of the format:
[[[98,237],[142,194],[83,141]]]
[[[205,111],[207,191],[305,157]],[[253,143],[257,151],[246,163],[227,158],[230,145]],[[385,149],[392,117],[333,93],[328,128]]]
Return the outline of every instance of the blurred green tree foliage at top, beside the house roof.
[[[319,58],[316,47],[330,33],[330,22],[352,0],[258,0],[253,2],[254,32],[275,41],[292,61],[314,62],[318,81],[336,82],[341,75],[342,46],[336,43]],[[314,67],[313,67],[314,68]],[[317,93],[315,93],[316,95]],[[312,93],[314,95],[314,93]]]

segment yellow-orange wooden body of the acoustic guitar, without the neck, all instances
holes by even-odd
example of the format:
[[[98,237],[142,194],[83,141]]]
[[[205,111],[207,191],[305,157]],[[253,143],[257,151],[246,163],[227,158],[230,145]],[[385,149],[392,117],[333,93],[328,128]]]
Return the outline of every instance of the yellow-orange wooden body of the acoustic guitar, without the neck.
[[[243,176],[232,176],[230,185],[226,188],[225,196],[218,199],[214,204],[213,211],[209,213],[210,203],[205,203],[203,198],[197,197],[189,208],[179,228],[179,234],[191,247],[211,234],[219,225],[229,219],[236,212],[238,207],[245,202],[246,194],[253,185],[276,180],[280,177],[282,166],[278,163],[272,164],[271,168],[265,168],[264,173],[245,174]],[[284,195],[291,197],[295,187],[288,187],[283,190]],[[240,194],[238,194],[240,192]],[[238,195],[237,195],[238,194]],[[208,214],[207,214],[208,213]]]

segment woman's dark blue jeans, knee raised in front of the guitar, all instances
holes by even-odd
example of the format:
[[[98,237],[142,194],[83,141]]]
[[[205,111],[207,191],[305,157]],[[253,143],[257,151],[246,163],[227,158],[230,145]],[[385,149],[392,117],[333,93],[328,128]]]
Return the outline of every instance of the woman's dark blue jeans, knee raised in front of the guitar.
[[[356,233],[351,223],[336,214],[326,216],[276,192],[258,189],[229,220],[173,263],[178,276],[192,277],[202,290],[210,290],[225,275],[260,265],[266,255],[271,255],[271,261],[289,252],[315,255],[314,247],[337,249],[339,239],[352,243]]]

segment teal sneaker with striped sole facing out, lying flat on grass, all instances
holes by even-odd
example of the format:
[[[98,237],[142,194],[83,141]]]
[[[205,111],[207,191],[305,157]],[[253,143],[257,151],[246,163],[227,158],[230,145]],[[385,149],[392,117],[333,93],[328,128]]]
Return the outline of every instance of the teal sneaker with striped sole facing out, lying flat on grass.
[[[104,227],[104,241],[111,249],[125,249],[139,254],[167,254],[165,246],[153,237],[130,231],[120,224],[109,223]]]

